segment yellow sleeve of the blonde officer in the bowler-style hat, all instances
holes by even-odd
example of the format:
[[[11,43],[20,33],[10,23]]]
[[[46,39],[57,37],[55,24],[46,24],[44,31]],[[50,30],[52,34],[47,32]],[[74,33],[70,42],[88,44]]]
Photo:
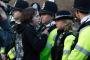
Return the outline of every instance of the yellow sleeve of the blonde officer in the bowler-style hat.
[[[75,40],[74,35],[69,35],[65,38],[62,60],[68,60],[68,56],[70,54],[74,40]]]

